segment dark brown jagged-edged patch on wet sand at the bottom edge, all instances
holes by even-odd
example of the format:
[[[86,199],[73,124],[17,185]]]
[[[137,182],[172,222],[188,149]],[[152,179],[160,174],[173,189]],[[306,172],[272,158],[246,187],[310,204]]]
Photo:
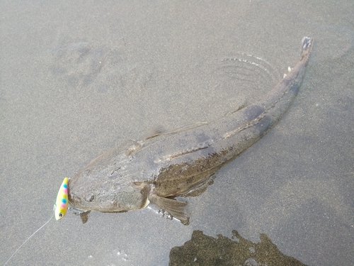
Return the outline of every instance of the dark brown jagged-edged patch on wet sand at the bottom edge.
[[[232,239],[217,238],[193,231],[192,238],[170,252],[169,266],[186,265],[304,265],[294,257],[280,252],[267,235],[261,233],[260,243],[242,238],[234,230]]]

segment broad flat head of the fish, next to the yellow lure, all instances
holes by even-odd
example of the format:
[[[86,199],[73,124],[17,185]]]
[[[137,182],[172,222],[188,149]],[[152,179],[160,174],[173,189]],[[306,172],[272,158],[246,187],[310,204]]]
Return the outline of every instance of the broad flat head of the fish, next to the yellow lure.
[[[81,211],[123,212],[149,204],[150,185],[127,174],[132,158],[127,147],[103,153],[69,179],[69,203]]]

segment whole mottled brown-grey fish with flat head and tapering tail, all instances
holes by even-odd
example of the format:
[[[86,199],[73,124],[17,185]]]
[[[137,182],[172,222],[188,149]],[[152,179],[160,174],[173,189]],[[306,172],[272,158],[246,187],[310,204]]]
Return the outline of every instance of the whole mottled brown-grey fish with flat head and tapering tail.
[[[302,39],[297,65],[256,103],[211,123],[154,131],[97,157],[69,179],[70,204],[83,211],[122,212],[152,201],[187,224],[186,202],[171,197],[205,189],[212,174],[278,122],[299,91],[312,44],[312,38]]]

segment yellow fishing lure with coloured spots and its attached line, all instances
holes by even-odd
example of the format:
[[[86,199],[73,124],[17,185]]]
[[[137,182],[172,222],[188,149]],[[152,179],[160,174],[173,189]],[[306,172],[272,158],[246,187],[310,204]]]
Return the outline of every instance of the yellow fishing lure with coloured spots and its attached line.
[[[67,182],[68,182],[68,178],[65,177],[64,181],[62,182],[62,185],[59,188],[59,192],[57,194],[57,201],[55,202],[54,205],[54,216],[55,219],[58,221],[59,219],[63,218],[65,216],[65,214],[67,214],[67,206],[68,206],[68,199],[67,199]],[[47,223],[50,222],[50,220],[52,220],[53,216],[50,216],[50,219],[44,223],[42,226],[40,226],[40,228],[37,229],[37,231],[35,231],[35,233],[37,233],[38,231],[40,231],[40,229],[42,229],[43,227],[45,227],[45,225]],[[30,240],[30,238],[33,237],[33,235],[35,235],[35,233],[33,233],[32,235],[30,235],[29,238],[27,238],[25,240],[25,242],[23,242],[18,249],[11,255],[11,257],[8,258],[8,260],[5,262],[4,266],[7,264],[7,262],[9,262],[11,260],[11,258],[18,252],[18,250],[20,250],[20,248],[22,248],[23,245],[25,245],[25,243]]]

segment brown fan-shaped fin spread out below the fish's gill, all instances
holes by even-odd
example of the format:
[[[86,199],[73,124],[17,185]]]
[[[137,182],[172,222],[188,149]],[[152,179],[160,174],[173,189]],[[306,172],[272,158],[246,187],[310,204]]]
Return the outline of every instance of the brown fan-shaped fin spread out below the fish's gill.
[[[177,201],[176,199],[168,199],[158,196],[154,192],[149,195],[149,201],[156,204],[161,209],[168,211],[173,217],[181,221],[185,226],[189,224],[189,217],[185,214],[184,207],[187,205],[185,201]]]

